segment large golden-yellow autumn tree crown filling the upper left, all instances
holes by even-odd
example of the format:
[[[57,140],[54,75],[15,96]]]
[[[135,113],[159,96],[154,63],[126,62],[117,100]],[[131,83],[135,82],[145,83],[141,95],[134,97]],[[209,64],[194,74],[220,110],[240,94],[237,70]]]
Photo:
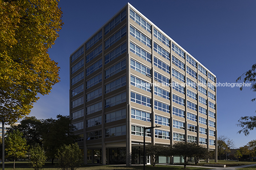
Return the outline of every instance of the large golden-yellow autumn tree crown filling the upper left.
[[[61,29],[59,0],[0,0],[0,117],[14,123],[59,82],[48,55]]]

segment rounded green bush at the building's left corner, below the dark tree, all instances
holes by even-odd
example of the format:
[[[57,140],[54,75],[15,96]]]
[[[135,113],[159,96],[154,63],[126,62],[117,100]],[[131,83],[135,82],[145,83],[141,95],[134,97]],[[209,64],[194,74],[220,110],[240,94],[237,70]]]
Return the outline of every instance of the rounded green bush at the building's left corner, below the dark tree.
[[[63,145],[58,149],[56,159],[58,160],[58,169],[76,170],[81,163],[83,156],[77,143]]]

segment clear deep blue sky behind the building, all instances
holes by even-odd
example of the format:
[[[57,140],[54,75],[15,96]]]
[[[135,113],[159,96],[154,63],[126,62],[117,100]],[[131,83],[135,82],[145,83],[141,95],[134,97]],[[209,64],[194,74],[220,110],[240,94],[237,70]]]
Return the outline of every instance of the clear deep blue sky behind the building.
[[[207,67],[217,82],[235,83],[256,63],[256,0],[61,0],[64,26],[50,57],[58,62],[61,82],[41,96],[29,116],[69,115],[69,57],[129,2]],[[217,87],[217,131],[244,146],[256,139],[237,134],[241,116],[256,115],[250,87]]]

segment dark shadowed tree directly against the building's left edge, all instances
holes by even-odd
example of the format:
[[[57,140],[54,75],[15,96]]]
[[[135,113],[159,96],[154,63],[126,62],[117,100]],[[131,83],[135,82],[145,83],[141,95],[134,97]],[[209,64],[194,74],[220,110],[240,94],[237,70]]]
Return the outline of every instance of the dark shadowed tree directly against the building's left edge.
[[[69,116],[57,115],[57,120],[46,119],[43,120],[42,137],[43,147],[46,151],[46,156],[52,159],[60,146],[63,144],[74,143],[77,135],[73,134],[75,127],[71,125]]]

